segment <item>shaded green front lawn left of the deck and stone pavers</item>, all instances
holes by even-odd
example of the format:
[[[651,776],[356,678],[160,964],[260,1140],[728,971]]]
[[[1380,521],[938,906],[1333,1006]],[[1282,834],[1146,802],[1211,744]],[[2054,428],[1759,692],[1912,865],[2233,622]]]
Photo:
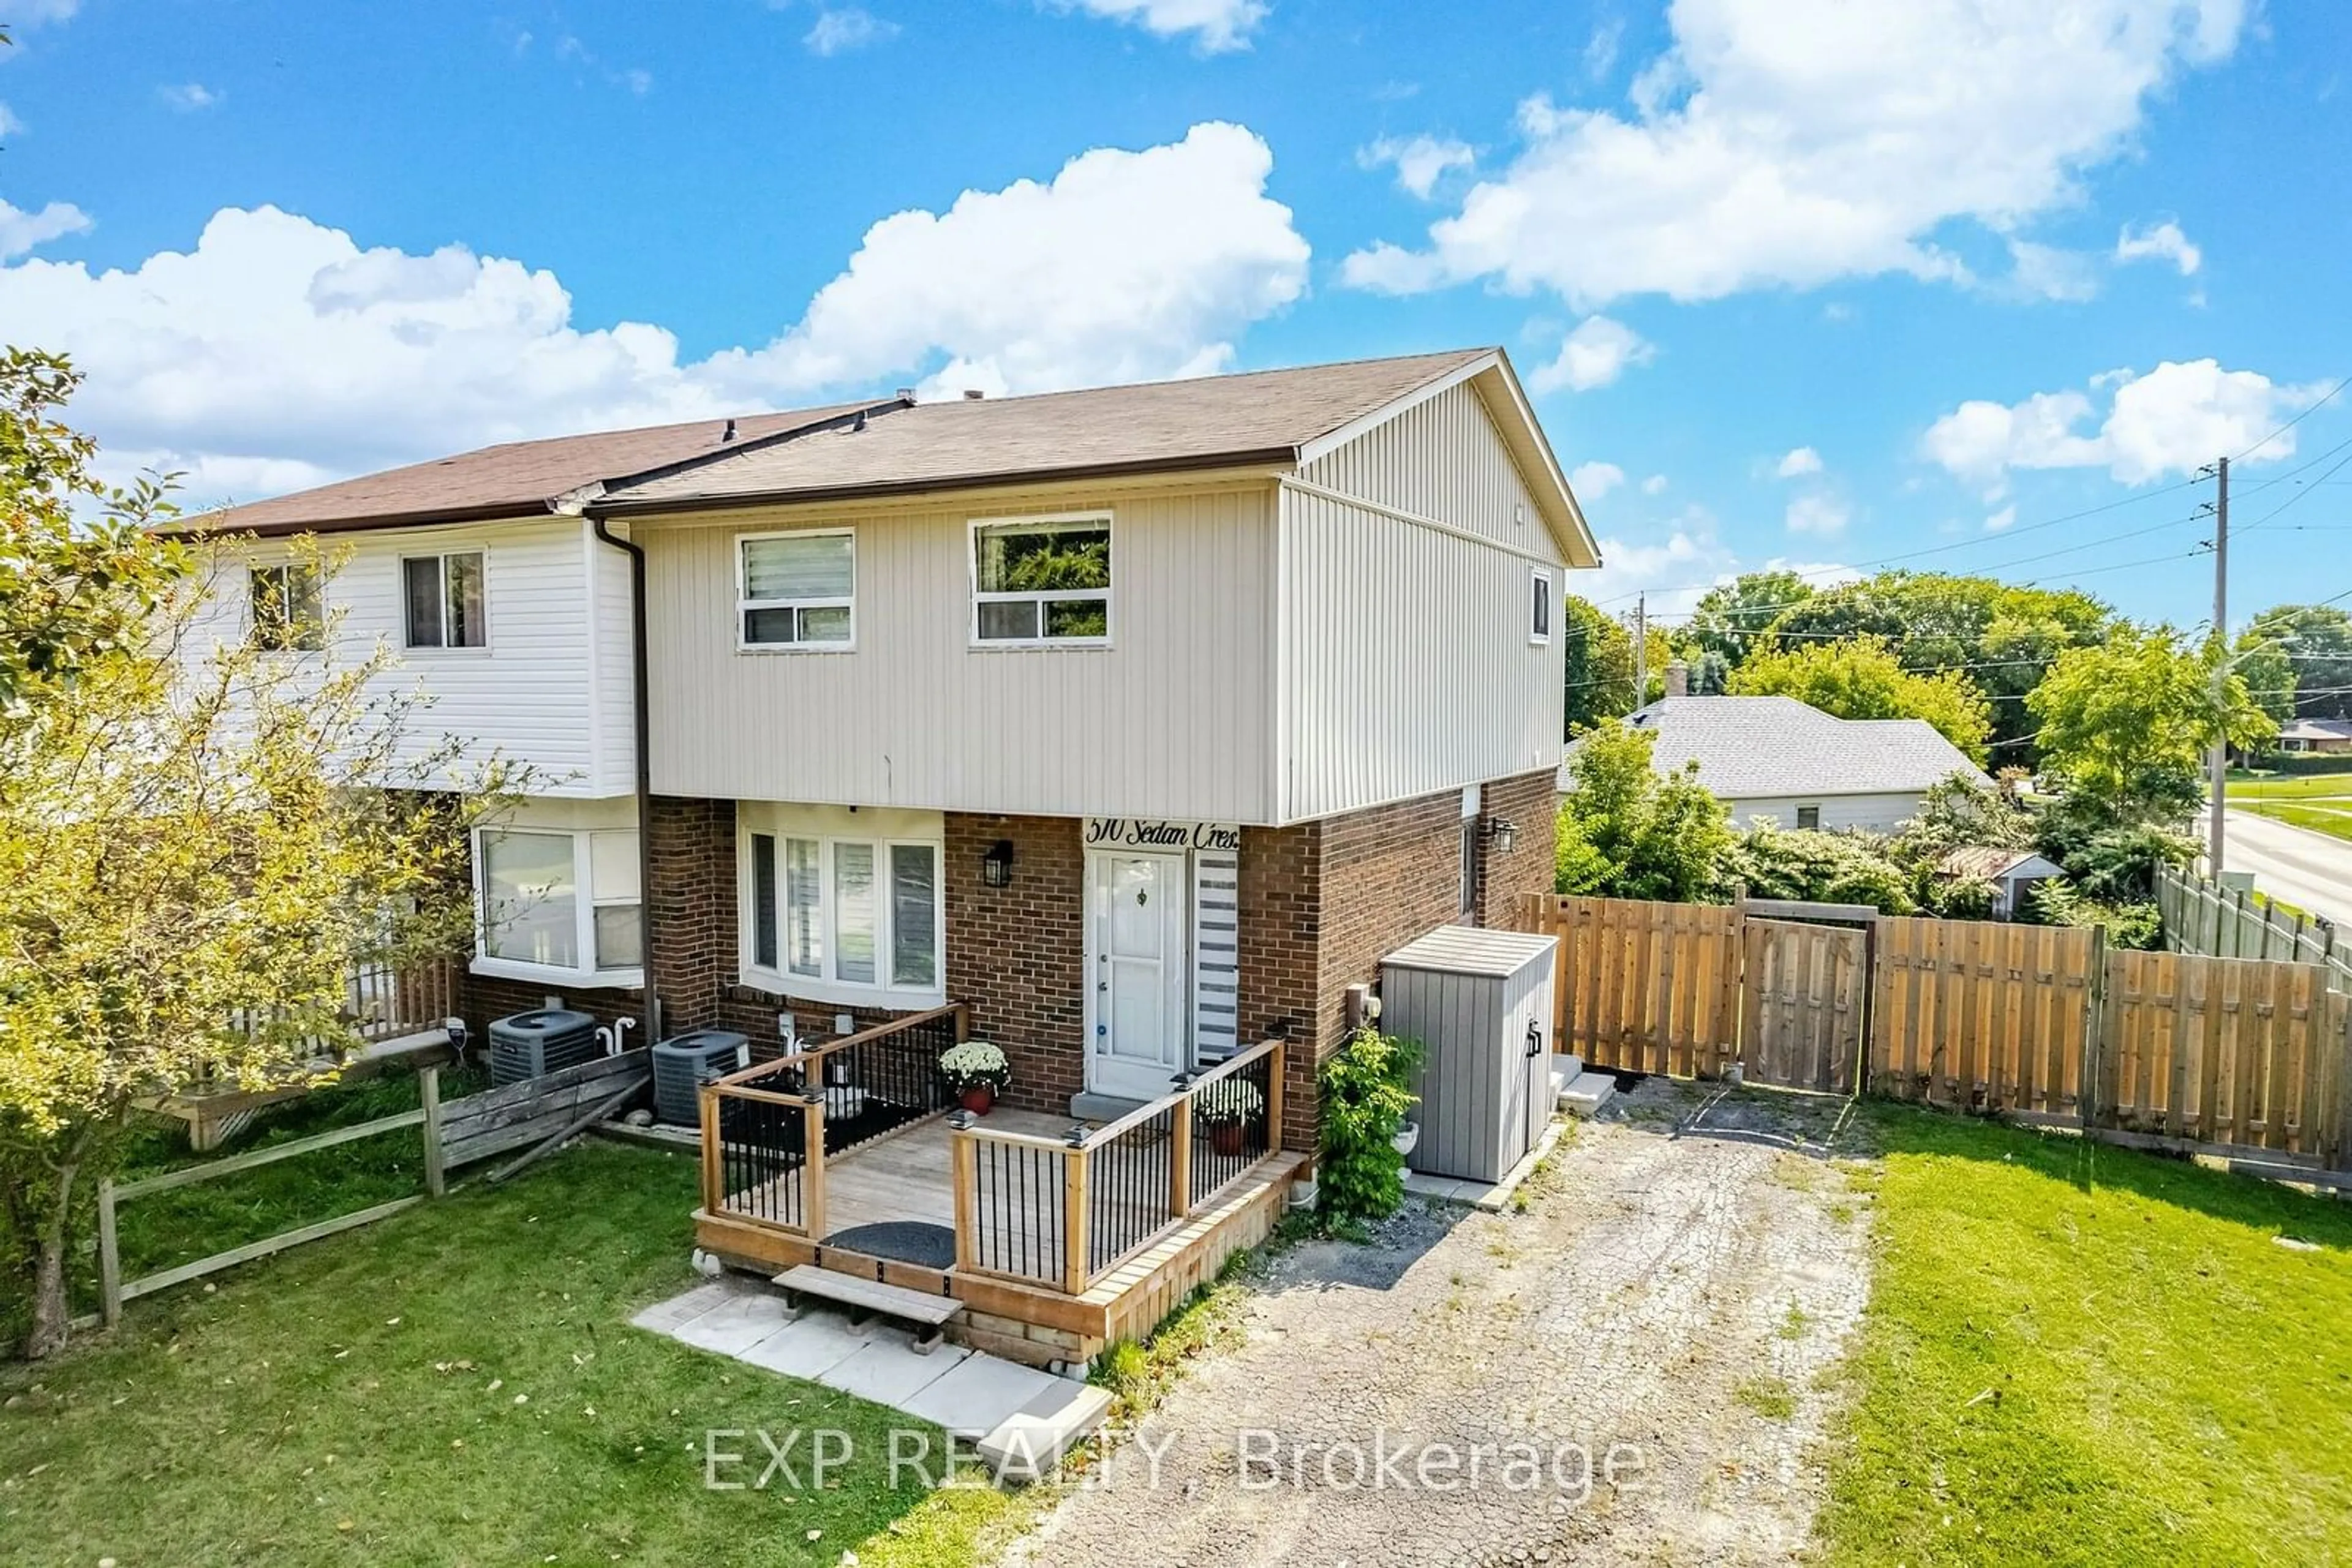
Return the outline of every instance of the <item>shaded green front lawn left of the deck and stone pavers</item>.
[[[1021,1505],[891,1488],[884,1434],[910,1422],[628,1328],[691,1284],[694,1182],[691,1159],[590,1140],[506,1187],[219,1274],[214,1291],[132,1302],[113,1342],[0,1366],[0,1556],[969,1561],[974,1535]],[[329,1213],[341,1206],[358,1204],[336,1194]],[[186,1248],[212,1251],[223,1218],[273,1229],[256,1215],[214,1213]],[[141,1241],[148,1262],[174,1246]],[[835,1427],[856,1460],[826,1490],[706,1490],[710,1427],[779,1441]]]

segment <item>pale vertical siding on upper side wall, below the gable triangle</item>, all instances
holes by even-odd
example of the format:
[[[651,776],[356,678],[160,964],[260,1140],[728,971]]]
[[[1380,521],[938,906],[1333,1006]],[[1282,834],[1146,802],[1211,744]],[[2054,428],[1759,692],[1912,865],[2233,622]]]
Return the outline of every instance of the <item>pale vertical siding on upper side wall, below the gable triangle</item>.
[[[1284,820],[1559,764],[1557,602],[1529,642],[1534,562],[1305,491],[1282,496],[1282,552]]]

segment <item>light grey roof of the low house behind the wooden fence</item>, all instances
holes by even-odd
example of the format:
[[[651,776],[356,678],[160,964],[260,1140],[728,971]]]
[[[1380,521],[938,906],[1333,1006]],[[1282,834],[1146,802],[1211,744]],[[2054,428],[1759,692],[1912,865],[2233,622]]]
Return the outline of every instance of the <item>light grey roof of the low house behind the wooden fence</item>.
[[[1661,773],[1696,762],[1717,799],[1917,795],[1952,773],[1992,783],[1926,719],[1839,719],[1792,696],[1670,696],[1625,722],[1658,736]]]

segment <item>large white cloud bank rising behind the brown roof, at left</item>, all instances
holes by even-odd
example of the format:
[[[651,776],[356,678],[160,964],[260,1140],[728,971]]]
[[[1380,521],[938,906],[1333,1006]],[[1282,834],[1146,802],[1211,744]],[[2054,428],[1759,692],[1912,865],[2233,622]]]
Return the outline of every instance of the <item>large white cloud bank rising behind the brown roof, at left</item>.
[[[875,223],[797,324],[682,362],[659,324],[583,327],[548,270],[362,247],[275,207],[223,209],[134,268],[0,266],[0,341],[73,353],[73,418],[111,470],[191,473],[191,501],[567,430],[863,393],[1049,390],[1223,369],[1305,287],[1308,244],[1242,127],[1073,158]],[[87,228],[0,205],[0,256]]]

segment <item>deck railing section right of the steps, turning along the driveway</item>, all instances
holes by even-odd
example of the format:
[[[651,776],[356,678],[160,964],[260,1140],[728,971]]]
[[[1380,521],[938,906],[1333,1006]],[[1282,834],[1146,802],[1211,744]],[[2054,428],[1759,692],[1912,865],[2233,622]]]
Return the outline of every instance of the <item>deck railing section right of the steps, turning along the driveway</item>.
[[[1284,1041],[1270,1039],[1080,1138],[955,1133],[955,1267],[1084,1295],[1268,1154]]]

